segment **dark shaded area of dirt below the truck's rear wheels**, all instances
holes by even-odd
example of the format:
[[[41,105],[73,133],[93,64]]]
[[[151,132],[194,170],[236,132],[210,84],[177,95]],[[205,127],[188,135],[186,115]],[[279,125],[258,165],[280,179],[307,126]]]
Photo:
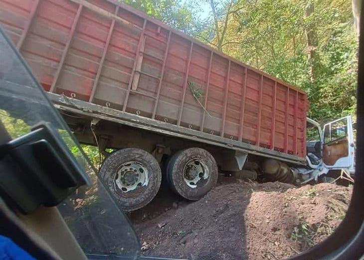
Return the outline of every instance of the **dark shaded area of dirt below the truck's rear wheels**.
[[[246,259],[244,212],[249,183],[219,177],[204,198],[189,202],[163,187],[144,209],[130,217],[143,254],[178,259]]]

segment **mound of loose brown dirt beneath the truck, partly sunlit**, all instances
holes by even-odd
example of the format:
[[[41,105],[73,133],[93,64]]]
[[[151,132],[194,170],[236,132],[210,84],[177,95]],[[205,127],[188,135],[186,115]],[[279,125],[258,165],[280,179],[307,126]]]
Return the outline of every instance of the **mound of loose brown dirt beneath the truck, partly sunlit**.
[[[319,184],[222,184],[203,199],[174,203],[135,223],[148,256],[280,259],[325,239],[345,217],[351,188]]]

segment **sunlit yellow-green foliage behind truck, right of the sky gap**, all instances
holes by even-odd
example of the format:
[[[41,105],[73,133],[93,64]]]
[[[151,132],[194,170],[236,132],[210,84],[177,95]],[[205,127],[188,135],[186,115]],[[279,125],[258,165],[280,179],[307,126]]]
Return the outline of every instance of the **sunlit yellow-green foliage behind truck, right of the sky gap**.
[[[309,2],[314,6],[307,15]],[[308,93],[309,116],[321,123],[356,113],[358,40],[346,0],[214,0],[219,29],[199,37],[210,45]],[[226,14],[230,8],[231,15]],[[211,11],[212,12],[212,11]],[[227,19],[224,20],[224,17]],[[224,38],[222,28],[227,24]],[[312,34],[308,34],[308,30]],[[219,34],[219,35],[216,35]],[[212,37],[211,37],[212,35]],[[309,45],[308,37],[316,46]],[[312,44],[312,43],[311,43]],[[315,52],[316,60],[310,62]],[[315,77],[310,75],[314,66]]]

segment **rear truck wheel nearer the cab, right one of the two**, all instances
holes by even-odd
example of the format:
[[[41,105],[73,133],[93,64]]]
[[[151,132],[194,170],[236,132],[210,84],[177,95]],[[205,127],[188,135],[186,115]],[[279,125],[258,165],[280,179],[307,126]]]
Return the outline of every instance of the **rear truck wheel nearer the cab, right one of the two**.
[[[217,183],[217,165],[201,148],[188,148],[172,156],[167,164],[170,187],[187,200],[201,199]]]

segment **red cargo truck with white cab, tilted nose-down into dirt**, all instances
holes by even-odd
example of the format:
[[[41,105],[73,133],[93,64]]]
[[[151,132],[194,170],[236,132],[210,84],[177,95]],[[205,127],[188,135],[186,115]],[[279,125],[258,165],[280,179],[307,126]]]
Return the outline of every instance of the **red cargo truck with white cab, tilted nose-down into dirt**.
[[[100,176],[125,211],[154,198],[161,165],[189,200],[218,171],[306,183],[354,166],[350,117],[325,138],[310,120],[307,142],[303,90],[117,0],[2,0],[0,22],[79,141],[107,155]]]

